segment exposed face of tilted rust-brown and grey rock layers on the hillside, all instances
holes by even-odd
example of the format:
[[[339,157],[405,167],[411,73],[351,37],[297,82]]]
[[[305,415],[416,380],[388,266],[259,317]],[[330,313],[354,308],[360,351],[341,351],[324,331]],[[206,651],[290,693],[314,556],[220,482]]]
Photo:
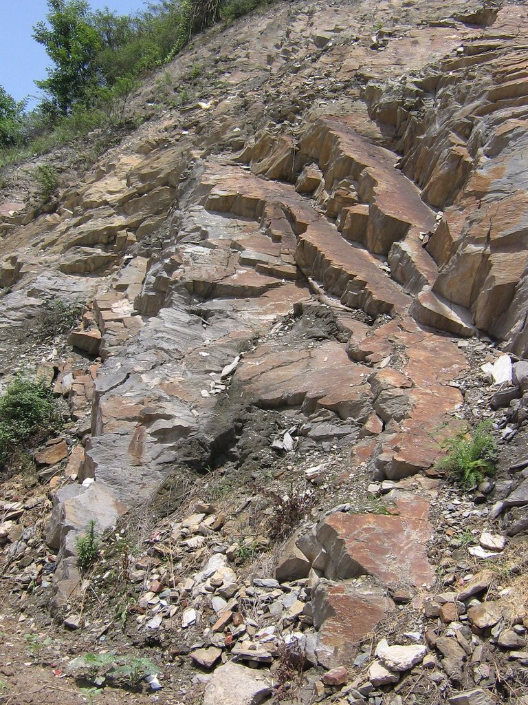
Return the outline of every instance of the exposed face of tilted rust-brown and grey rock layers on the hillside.
[[[402,479],[458,428],[458,336],[528,353],[527,30],[515,3],[277,4],[170,66],[216,67],[207,102],[145,123],[55,212],[2,206],[4,358],[46,296],[90,303],[70,342],[101,357],[56,381],[84,419],[83,484],[58,491],[49,528],[57,606],[87,521],[158,491],[177,503],[244,446],[249,409],[301,416],[301,450],[360,441],[375,479]],[[398,566],[430,582],[427,508],[318,529],[320,599],[379,613],[355,638],[394,608]],[[333,582],[356,573],[375,582]],[[339,665],[331,613],[319,648]]]

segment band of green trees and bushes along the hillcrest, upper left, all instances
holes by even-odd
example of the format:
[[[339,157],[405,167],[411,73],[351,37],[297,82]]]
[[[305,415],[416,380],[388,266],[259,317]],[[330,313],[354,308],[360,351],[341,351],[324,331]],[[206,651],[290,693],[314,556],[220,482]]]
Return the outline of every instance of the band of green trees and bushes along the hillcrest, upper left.
[[[31,111],[0,86],[0,167],[74,142],[93,130],[137,126],[127,107],[139,82],[171,61],[194,35],[231,22],[268,0],[158,0],[120,15],[86,0],[47,0],[33,37],[50,59]],[[192,79],[201,68],[193,67]],[[187,102],[180,98],[179,104]]]

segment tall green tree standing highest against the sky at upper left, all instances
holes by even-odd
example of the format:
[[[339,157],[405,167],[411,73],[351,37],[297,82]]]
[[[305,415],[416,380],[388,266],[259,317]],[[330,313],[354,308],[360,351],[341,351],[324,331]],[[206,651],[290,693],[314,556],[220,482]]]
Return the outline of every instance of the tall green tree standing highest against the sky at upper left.
[[[96,85],[102,39],[85,0],[48,0],[48,7],[49,26],[37,23],[33,38],[44,46],[54,66],[48,69],[48,78],[35,83],[65,115]]]

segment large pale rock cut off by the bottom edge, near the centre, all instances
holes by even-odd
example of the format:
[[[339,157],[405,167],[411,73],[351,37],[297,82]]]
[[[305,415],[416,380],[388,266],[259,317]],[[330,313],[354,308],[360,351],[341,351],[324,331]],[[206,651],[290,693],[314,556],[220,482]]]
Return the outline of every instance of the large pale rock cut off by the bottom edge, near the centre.
[[[253,670],[229,661],[215,670],[206,685],[203,705],[259,705],[271,694],[267,670]]]

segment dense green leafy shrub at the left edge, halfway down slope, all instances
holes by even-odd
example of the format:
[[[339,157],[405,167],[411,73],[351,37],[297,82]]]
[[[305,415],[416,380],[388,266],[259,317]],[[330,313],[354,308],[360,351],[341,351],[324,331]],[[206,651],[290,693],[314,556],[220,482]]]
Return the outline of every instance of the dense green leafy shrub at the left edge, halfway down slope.
[[[0,465],[27,444],[34,445],[61,428],[51,389],[42,379],[15,377],[0,397]]]

